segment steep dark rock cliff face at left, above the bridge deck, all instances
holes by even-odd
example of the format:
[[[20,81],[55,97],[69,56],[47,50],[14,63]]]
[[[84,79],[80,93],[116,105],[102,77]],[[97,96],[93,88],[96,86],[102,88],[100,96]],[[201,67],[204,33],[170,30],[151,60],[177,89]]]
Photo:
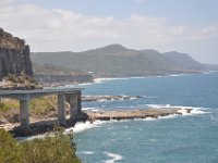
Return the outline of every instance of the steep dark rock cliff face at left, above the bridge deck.
[[[23,39],[13,37],[0,28],[0,79],[9,74],[33,75],[29,47]]]

